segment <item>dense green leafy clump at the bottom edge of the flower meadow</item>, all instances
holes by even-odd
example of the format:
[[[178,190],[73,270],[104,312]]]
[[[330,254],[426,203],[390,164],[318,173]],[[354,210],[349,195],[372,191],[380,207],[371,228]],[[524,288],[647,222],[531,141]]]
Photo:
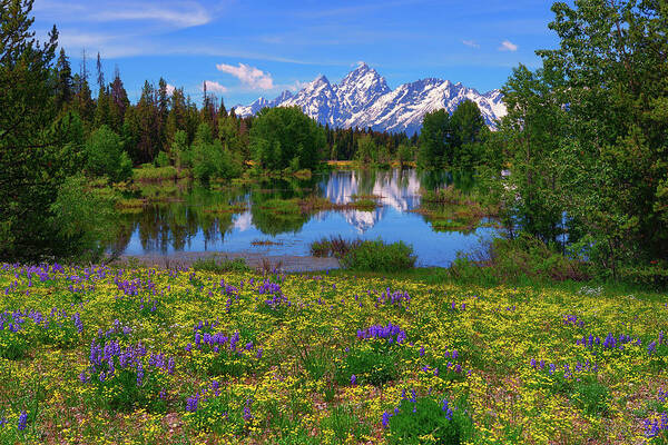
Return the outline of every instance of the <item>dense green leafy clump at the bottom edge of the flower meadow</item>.
[[[443,445],[468,443],[473,438],[473,421],[462,407],[449,408],[451,412],[443,411],[443,402],[429,397],[418,397],[415,402],[403,399],[399,413],[393,413],[389,419],[387,442]]]

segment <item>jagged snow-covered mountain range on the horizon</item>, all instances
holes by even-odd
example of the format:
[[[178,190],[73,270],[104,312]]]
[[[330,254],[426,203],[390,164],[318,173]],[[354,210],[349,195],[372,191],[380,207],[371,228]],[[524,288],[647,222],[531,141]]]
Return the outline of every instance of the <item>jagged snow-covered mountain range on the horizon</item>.
[[[317,77],[296,92],[284,91],[277,98],[259,98],[248,106],[235,107],[237,116],[250,116],[265,107],[294,107],[332,128],[372,128],[376,131],[420,132],[424,115],[445,109],[452,112],[463,100],[478,103],[490,127],[505,116],[500,90],[480,93],[462,83],[435,78],[404,83],[392,90],[385,78],[366,63],[348,72],[338,83]]]

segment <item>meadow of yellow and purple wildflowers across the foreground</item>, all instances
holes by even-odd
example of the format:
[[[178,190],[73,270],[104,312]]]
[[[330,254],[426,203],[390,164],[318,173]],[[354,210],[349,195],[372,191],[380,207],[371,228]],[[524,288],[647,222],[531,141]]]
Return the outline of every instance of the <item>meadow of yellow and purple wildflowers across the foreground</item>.
[[[3,444],[668,437],[656,296],[56,264],[0,293]]]

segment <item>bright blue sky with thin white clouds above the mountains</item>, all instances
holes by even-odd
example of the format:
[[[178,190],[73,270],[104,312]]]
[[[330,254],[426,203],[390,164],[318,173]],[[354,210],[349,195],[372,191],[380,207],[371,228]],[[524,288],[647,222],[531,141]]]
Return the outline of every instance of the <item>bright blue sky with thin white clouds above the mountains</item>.
[[[38,34],[56,23],[78,70],[99,51],[132,100],[164,77],[197,101],[202,85],[227,105],[338,81],[367,62],[391,88],[438,77],[488,91],[512,67],[554,48],[544,0],[36,0]]]

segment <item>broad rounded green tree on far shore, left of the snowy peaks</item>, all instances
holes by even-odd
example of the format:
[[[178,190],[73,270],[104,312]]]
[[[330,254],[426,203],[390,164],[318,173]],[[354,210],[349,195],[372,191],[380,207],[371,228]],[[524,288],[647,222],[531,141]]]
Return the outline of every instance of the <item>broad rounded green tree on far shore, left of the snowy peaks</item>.
[[[298,107],[265,108],[250,129],[250,152],[253,159],[271,170],[292,167],[298,159],[298,169],[316,169],[321,150],[325,146],[325,134]]]

